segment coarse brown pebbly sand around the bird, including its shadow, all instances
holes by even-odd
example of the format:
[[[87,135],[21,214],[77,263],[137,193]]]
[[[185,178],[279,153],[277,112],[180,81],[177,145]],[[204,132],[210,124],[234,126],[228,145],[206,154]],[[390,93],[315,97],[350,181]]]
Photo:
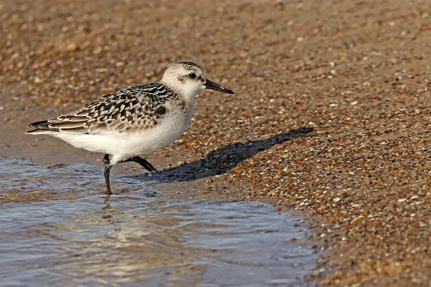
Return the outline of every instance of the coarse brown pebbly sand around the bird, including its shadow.
[[[429,1],[0,9],[0,156],[94,164],[100,155],[24,136],[25,124],[196,61],[236,94],[199,94],[187,133],[148,156],[165,170],[157,189],[306,212],[322,284],[430,284]],[[136,165],[113,172],[151,183]]]

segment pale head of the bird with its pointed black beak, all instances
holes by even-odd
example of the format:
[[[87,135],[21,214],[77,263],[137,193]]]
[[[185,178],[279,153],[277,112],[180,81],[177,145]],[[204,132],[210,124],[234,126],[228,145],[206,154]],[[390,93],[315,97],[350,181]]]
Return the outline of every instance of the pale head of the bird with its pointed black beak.
[[[226,94],[234,94],[230,89],[206,79],[202,68],[188,61],[182,61],[167,68],[160,82],[171,89],[181,91],[188,97],[196,96],[202,89],[213,89]]]

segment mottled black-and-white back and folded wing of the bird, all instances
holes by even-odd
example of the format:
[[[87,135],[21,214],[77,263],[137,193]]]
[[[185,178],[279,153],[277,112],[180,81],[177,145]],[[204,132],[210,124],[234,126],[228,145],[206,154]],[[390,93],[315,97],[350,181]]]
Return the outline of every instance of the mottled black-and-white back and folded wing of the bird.
[[[141,133],[155,127],[166,112],[166,102],[177,97],[160,82],[141,84],[103,96],[85,108],[42,122],[29,124],[35,131],[96,134],[115,131]]]

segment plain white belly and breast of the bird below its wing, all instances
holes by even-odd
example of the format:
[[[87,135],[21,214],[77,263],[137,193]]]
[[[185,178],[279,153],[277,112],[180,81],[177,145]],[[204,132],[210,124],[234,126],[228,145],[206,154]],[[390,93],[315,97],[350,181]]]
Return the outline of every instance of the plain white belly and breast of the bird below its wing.
[[[136,135],[123,135],[113,131],[104,131],[95,135],[67,133],[52,133],[51,135],[68,142],[73,147],[90,152],[111,154],[113,155],[111,163],[115,164],[132,156],[154,152],[178,140],[190,123],[193,108],[191,105],[187,114],[180,110],[172,112],[154,128]]]

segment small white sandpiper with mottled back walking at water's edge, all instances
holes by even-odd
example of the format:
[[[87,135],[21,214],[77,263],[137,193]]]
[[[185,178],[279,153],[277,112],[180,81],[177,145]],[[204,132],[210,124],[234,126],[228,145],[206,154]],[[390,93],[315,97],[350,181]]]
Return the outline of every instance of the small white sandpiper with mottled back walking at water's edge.
[[[166,147],[183,135],[202,89],[226,94],[234,91],[205,78],[198,64],[181,61],[169,66],[158,82],[120,89],[84,108],[28,125],[29,135],[51,135],[90,152],[104,155],[106,193],[117,163],[134,161],[157,171],[141,155]]]

